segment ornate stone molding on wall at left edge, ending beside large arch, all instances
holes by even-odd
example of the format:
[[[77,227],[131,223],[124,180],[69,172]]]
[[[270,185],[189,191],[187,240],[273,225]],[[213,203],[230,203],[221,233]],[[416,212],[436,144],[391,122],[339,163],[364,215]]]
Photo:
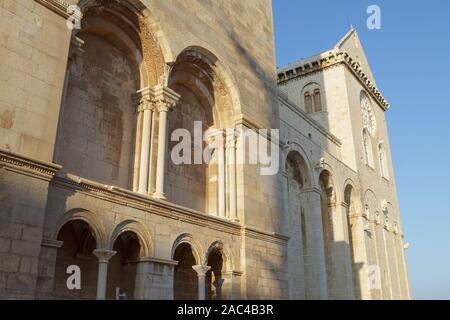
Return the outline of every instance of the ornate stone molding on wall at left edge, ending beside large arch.
[[[35,160],[1,148],[0,167],[45,180],[51,180],[61,169],[61,166],[54,163]]]

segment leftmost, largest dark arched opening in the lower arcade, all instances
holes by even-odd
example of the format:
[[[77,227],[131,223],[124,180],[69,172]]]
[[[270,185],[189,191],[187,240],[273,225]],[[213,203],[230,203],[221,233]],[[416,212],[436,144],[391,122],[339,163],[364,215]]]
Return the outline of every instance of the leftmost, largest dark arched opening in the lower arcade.
[[[94,300],[97,291],[97,258],[92,254],[96,240],[89,225],[82,220],[67,222],[58,232],[63,242],[58,249],[55,264],[54,296],[57,299]],[[71,290],[67,286],[69,266],[79,267],[81,288]]]

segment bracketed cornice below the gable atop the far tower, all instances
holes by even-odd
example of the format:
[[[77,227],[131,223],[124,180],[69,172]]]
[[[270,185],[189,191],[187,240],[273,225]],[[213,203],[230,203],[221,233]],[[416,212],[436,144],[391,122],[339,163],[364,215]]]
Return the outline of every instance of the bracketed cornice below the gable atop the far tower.
[[[362,70],[359,63],[345,51],[330,51],[327,55],[320,55],[316,59],[308,59],[304,63],[300,62],[291,68],[281,69],[278,72],[278,86],[282,86],[293,79],[302,78],[339,64],[345,65],[353,73],[384,111],[389,109],[389,103],[378,90],[375,83],[369,79],[369,76]]]

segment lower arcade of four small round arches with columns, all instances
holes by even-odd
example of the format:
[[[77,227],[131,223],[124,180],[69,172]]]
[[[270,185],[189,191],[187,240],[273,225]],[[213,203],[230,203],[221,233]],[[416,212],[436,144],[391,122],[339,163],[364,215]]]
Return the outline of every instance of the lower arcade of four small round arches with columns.
[[[59,228],[53,297],[57,299],[221,300],[231,295],[233,258],[222,241],[205,251],[190,234],[173,242],[170,260],[153,258],[153,242],[145,228],[124,221],[109,236],[90,221],[88,212],[71,214]],[[170,249],[169,249],[170,250]],[[81,289],[67,287],[67,267],[81,270]],[[160,276],[159,280],[155,280]],[[159,281],[159,282],[158,282]],[[164,293],[156,292],[160,287]]]

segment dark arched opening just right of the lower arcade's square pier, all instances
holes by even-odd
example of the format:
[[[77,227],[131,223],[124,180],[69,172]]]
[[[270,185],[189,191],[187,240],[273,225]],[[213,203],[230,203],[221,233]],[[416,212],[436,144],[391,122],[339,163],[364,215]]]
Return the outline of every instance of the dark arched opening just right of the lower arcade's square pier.
[[[188,243],[178,245],[175,249],[173,259],[178,261],[174,272],[174,299],[197,300],[198,276],[195,270],[192,269],[197,263],[191,245]]]

